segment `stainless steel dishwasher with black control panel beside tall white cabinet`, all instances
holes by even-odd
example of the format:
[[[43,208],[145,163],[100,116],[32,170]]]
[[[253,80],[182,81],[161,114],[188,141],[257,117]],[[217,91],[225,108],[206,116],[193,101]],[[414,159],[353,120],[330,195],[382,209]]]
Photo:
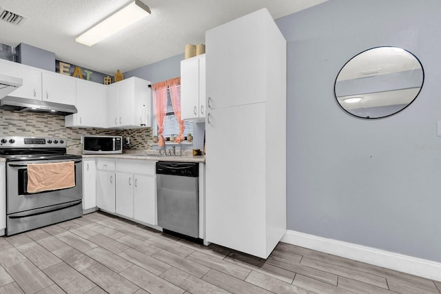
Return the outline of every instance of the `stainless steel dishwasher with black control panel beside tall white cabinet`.
[[[158,226],[165,231],[199,237],[198,170],[196,163],[156,163]]]

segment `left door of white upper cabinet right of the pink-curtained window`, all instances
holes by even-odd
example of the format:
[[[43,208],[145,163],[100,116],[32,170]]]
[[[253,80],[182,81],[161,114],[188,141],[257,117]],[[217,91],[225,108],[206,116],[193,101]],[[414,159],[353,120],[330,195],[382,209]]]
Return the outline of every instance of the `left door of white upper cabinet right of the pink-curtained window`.
[[[199,117],[199,59],[181,61],[181,117]]]

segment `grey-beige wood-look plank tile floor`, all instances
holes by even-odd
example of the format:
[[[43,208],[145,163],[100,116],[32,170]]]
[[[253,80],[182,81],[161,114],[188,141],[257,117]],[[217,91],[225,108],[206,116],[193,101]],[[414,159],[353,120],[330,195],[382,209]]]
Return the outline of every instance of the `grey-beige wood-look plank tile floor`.
[[[435,282],[279,243],[267,259],[104,213],[0,237],[1,293],[440,293]]]

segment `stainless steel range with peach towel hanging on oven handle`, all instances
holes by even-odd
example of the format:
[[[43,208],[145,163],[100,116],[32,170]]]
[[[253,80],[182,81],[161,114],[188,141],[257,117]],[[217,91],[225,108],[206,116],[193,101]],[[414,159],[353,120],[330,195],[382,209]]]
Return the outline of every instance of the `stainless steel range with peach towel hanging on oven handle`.
[[[0,157],[6,158],[6,235],[81,217],[82,157],[66,155],[65,139],[0,137]],[[43,168],[52,168],[61,163],[73,166],[71,175],[68,175],[73,182],[70,188],[54,188],[49,185],[48,189],[28,191],[29,182],[32,182],[28,181],[28,171],[35,173],[35,167],[41,168],[45,164]],[[54,182],[54,186],[57,186],[58,181],[62,182],[63,178],[57,175],[57,170],[54,173],[39,174],[41,179],[46,175],[52,175],[48,182]]]

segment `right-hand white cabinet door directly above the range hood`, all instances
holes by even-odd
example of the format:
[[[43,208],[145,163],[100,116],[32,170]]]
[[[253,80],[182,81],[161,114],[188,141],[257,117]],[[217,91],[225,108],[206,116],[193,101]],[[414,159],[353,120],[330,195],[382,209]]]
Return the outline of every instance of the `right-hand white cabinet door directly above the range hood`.
[[[43,72],[43,101],[75,105],[75,78],[57,73]]]

